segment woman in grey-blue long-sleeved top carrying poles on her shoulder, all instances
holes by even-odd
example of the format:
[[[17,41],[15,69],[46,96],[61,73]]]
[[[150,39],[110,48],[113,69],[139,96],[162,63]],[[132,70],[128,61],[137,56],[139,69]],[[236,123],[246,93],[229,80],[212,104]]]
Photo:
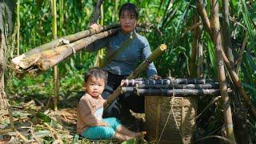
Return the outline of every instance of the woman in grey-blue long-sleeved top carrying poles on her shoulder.
[[[119,22],[121,30],[118,34],[114,34],[107,38],[102,38],[90,46],[86,47],[86,51],[92,52],[106,47],[106,60],[112,57],[119,47],[126,42],[126,47],[118,54],[114,55],[114,58],[107,62],[103,69],[109,74],[107,79],[106,89],[104,90],[102,97],[107,99],[110,94],[114,92],[120,85],[122,79],[127,78],[136,67],[138,61],[143,61],[150,54],[150,45],[145,37],[137,34],[135,31],[136,24],[138,22],[138,7],[132,3],[125,3],[119,10]],[[98,24],[92,24],[90,28],[99,30]],[[130,38],[130,42],[129,39]],[[153,78],[157,75],[157,70],[154,63],[150,63],[147,67],[146,75],[149,78]],[[123,95],[117,98],[105,111],[104,117],[120,118],[120,106],[127,108],[127,110],[133,110],[137,113],[144,112],[144,98],[136,95]]]

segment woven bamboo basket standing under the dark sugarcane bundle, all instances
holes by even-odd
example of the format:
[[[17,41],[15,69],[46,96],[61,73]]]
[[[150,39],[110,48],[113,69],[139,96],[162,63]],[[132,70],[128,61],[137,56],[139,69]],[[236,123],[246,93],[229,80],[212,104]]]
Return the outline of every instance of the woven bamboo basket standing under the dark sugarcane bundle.
[[[197,98],[146,96],[146,132],[148,142],[190,143]]]

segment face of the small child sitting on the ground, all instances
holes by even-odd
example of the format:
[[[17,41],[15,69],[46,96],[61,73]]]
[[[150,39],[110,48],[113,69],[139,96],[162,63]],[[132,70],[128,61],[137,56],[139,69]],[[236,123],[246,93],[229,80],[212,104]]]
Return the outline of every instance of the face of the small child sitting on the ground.
[[[105,88],[105,81],[103,78],[95,78],[90,76],[85,84],[86,92],[92,97],[98,97],[102,94]]]

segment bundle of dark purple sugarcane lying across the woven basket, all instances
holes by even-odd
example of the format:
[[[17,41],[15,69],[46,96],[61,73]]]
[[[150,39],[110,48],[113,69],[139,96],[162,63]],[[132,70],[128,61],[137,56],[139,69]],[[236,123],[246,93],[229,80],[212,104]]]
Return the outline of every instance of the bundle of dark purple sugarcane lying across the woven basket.
[[[219,83],[203,78],[172,79],[125,79],[122,94],[134,93],[143,96],[191,96],[219,95]],[[228,90],[231,92],[231,90]]]

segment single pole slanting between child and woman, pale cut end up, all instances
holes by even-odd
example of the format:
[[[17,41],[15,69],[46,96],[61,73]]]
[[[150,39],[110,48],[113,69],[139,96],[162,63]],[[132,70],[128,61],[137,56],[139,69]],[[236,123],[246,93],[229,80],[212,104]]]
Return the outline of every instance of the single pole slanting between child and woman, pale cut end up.
[[[146,58],[140,66],[134,70],[127,79],[137,78],[140,73],[142,73],[143,70],[146,70],[146,66],[149,66],[151,62],[153,62],[158,56],[162,54],[164,50],[167,49],[167,46],[165,44],[162,44],[158,46],[156,50],[148,58]],[[104,109],[106,109],[122,92],[122,86],[118,86],[116,90],[114,90],[113,94],[110,94],[109,98],[104,103]]]

